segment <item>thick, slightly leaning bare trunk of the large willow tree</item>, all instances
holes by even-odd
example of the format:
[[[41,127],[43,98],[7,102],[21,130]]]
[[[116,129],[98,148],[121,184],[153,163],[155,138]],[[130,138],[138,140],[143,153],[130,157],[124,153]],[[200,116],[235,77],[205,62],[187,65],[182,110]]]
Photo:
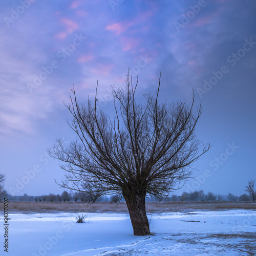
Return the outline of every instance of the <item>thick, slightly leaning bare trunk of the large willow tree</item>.
[[[124,195],[135,236],[146,236],[150,234],[150,225],[146,216],[145,196],[145,193]]]

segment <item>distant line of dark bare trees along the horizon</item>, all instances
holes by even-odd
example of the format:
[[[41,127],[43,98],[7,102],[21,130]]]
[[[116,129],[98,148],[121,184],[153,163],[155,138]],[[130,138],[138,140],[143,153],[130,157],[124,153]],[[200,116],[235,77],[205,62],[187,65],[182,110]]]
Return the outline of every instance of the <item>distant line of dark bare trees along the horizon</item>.
[[[24,194],[23,196],[12,196],[7,194],[9,201],[29,201],[29,202],[119,202],[124,201],[123,198],[117,197],[115,195],[112,196],[101,196],[99,194],[87,194],[83,192],[68,192],[63,191],[60,195],[55,195],[50,193],[49,195],[41,195],[41,196],[28,196]],[[215,201],[252,201],[252,198],[247,194],[243,194],[240,197],[234,196],[233,194],[229,193],[226,196],[222,196],[220,194],[214,194],[208,192],[204,194],[203,190],[194,191],[191,193],[183,192],[181,196],[171,195],[168,197],[150,197],[146,198],[146,202],[153,202],[153,201],[167,201],[167,202],[215,202]]]

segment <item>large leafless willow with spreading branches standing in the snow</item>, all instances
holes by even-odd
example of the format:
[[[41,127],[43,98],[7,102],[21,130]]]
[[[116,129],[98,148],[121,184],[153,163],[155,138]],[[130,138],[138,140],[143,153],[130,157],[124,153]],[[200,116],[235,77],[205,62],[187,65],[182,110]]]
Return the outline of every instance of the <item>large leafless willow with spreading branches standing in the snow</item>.
[[[114,116],[108,116],[94,101],[79,103],[75,88],[66,105],[73,116],[71,128],[77,138],[68,145],[57,140],[49,154],[63,163],[64,188],[97,195],[116,194],[127,204],[134,234],[150,234],[145,197],[166,196],[191,176],[193,163],[209,149],[195,135],[202,113],[193,102],[160,103],[144,95],[136,102],[138,84],[129,73],[125,89],[112,87]]]

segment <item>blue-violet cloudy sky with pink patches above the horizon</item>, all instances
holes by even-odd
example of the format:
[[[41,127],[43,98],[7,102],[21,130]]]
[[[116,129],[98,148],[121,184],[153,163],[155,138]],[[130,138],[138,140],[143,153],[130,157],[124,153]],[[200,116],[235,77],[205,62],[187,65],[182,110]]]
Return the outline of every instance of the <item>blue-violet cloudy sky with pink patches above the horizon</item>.
[[[210,150],[183,191],[240,196],[256,179],[256,3],[253,0],[21,0],[0,3],[0,173],[12,195],[59,194],[65,173],[47,149],[76,136],[70,89],[108,114],[128,68],[140,95],[202,102]],[[193,88],[193,89],[192,89]]]

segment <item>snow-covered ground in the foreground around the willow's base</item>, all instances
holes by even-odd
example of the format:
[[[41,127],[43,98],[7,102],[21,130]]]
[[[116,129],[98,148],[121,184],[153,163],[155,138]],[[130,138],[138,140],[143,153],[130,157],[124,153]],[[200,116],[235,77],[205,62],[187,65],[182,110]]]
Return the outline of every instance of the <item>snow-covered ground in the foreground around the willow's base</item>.
[[[2,246],[0,254],[256,255],[255,210],[148,214],[155,236],[146,237],[133,235],[128,214],[88,213],[84,224],[76,223],[77,216],[69,212],[9,214],[8,253]],[[0,237],[4,241],[3,228]]]

